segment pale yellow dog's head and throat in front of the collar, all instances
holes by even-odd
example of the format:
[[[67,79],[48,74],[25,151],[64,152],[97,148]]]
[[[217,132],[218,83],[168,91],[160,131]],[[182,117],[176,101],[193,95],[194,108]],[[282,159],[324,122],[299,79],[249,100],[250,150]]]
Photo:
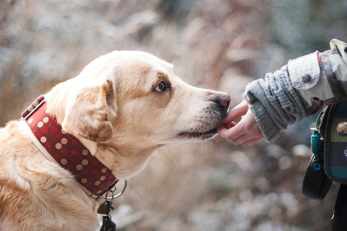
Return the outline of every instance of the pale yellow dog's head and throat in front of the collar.
[[[62,128],[93,142],[118,178],[134,175],[157,148],[214,137],[230,103],[226,93],[190,86],[171,64],[135,51],[103,55],[47,95]]]

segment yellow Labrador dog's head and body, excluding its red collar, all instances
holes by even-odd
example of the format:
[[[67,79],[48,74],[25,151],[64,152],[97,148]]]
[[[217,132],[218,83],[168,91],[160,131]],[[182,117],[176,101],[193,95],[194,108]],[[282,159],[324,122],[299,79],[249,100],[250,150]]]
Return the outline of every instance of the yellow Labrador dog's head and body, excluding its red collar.
[[[141,171],[151,153],[217,134],[230,96],[192,87],[173,66],[137,51],[88,64],[46,95],[49,114],[118,179]],[[0,230],[99,230],[98,204],[69,171],[48,160],[23,120],[0,129]]]

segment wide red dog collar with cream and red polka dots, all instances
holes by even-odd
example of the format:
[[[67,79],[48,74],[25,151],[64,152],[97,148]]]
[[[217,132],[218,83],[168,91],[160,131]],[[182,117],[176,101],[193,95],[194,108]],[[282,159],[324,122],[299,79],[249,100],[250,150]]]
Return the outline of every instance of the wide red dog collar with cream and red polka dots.
[[[62,131],[56,118],[48,114],[43,95],[24,110],[22,118],[49,155],[91,193],[101,196],[118,182],[75,136]],[[51,157],[47,158],[53,160]]]

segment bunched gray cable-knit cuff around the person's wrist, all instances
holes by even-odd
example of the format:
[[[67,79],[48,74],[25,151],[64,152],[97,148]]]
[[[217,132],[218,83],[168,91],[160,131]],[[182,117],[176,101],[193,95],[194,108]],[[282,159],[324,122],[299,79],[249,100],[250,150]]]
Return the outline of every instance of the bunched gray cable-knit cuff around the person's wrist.
[[[288,125],[308,117],[286,66],[266,74],[265,79],[248,83],[243,97],[267,142],[275,140]]]

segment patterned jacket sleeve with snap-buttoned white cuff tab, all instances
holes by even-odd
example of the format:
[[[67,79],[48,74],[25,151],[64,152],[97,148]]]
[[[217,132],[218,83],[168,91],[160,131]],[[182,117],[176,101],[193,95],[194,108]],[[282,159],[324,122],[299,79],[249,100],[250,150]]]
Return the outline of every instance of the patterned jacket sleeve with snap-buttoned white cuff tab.
[[[347,43],[332,39],[330,48],[288,62],[287,74],[308,114],[315,113],[323,103],[347,100]]]

